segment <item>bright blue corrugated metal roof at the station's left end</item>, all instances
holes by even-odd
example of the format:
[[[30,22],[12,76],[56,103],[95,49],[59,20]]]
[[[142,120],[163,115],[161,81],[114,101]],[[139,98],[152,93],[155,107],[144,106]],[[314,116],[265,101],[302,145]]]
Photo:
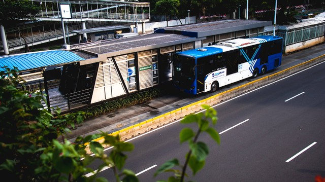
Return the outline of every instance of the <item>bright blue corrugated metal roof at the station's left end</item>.
[[[23,71],[81,60],[85,59],[75,53],[63,50],[14,54],[0,57],[0,70],[5,70],[3,66],[8,66],[11,69],[15,66],[19,71]]]

